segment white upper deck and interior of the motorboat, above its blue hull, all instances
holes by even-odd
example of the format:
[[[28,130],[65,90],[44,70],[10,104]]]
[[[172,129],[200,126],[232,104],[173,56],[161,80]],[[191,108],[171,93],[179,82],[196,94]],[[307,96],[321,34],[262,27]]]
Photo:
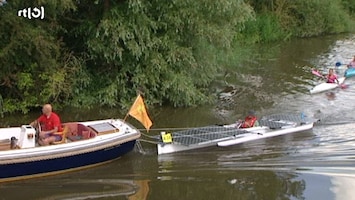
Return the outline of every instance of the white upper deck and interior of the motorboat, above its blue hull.
[[[94,130],[87,138],[81,137],[81,130],[77,136],[71,137],[66,134],[66,140],[60,144],[39,146],[36,143],[36,130],[30,125],[21,127],[1,128],[0,129],[0,164],[8,158],[20,158],[40,156],[40,155],[59,155],[66,152],[79,152],[79,150],[88,151],[99,146],[110,146],[114,143],[120,144],[129,140],[135,140],[140,137],[140,132],[133,126],[120,119],[107,119],[86,122],[69,122],[65,124],[75,124],[83,127],[90,127]],[[72,138],[79,137],[73,140]],[[10,148],[10,138],[18,139],[18,148]]]

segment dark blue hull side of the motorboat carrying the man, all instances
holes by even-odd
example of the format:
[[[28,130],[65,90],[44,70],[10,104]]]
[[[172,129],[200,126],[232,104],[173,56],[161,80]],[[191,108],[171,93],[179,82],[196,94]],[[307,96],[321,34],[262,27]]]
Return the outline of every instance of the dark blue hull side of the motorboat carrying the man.
[[[2,181],[6,181],[6,179],[18,180],[90,167],[119,158],[130,152],[133,150],[135,142],[136,140],[132,140],[109,148],[72,156],[0,165],[0,179]]]

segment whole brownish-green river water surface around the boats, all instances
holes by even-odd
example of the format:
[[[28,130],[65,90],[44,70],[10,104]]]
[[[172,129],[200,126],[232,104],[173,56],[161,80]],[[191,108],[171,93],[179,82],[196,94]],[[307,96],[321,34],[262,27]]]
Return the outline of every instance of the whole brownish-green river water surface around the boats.
[[[250,109],[260,116],[304,112],[319,119],[311,131],[160,156],[155,145],[142,143],[142,150],[103,166],[2,183],[0,199],[354,199],[355,78],[346,80],[344,89],[309,94],[322,81],[312,68],[326,72],[354,54],[353,35],[258,47],[243,67],[229,67],[216,80],[214,105],[149,111],[153,129],[166,130],[233,123]],[[342,74],[344,67],[336,70]],[[124,114],[66,109],[61,115],[63,121],[76,121]],[[34,116],[1,120],[26,123]],[[142,127],[132,118],[129,122]]]

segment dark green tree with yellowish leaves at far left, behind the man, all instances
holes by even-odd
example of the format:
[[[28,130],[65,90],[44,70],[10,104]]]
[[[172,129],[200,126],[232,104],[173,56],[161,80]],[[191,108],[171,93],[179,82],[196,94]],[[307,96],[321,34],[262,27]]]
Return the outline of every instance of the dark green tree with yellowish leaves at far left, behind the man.
[[[19,9],[43,5],[45,20],[17,16]],[[27,112],[68,95],[68,78],[77,70],[57,35],[57,17],[73,9],[71,1],[11,1],[0,9],[0,94],[2,112]],[[75,63],[77,64],[77,63]],[[70,80],[70,79],[69,79]]]

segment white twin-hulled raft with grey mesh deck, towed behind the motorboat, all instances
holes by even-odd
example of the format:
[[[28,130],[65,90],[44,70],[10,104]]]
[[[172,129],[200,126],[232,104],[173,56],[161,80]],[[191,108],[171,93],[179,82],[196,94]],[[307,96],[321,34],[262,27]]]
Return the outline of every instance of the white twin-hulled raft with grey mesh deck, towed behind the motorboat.
[[[206,126],[186,131],[172,133],[172,141],[160,142],[157,145],[158,154],[169,154],[181,151],[189,151],[210,146],[231,146],[253,140],[275,137],[313,128],[313,121],[302,121],[302,117],[294,121],[280,119],[281,115],[274,115],[261,120],[262,126],[247,129],[238,129],[233,125]],[[281,116],[285,117],[285,115]],[[288,116],[289,117],[289,116]],[[291,118],[289,117],[289,118]],[[287,117],[286,117],[287,118]],[[303,118],[302,118],[303,119]]]

